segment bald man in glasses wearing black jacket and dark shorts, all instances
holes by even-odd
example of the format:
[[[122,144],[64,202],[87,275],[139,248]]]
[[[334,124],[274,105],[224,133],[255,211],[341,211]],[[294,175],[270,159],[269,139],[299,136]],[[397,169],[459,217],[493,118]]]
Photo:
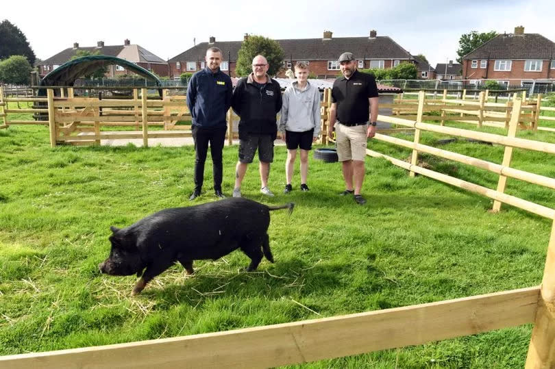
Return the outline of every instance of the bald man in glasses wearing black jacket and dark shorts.
[[[277,137],[275,116],[282,109],[280,84],[267,74],[268,61],[262,55],[252,60],[252,73],[237,82],[232,108],[239,120],[239,161],[235,170],[234,197],[241,196],[241,183],[258,149],[260,192],[273,196],[268,188],[273,141]]]

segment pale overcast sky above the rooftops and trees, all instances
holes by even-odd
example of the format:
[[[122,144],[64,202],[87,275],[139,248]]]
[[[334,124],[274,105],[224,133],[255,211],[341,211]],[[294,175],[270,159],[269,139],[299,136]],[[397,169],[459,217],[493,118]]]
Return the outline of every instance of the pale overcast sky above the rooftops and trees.
[[[25,7],[4,1],[0,20],[8,19],[27,36],[37,58],[45,60],[73,47],[123,44],[129,38],[167,60],[207,42],[242,40],[245,33],[274,39],[389,36],[430,64],[455,60],[462,34],[537,33],[555,42],[551,0],[491,1],[54,1]],[[44,6],[43,6],[44,5]],[[1,40],[0,40],[1,42]]]

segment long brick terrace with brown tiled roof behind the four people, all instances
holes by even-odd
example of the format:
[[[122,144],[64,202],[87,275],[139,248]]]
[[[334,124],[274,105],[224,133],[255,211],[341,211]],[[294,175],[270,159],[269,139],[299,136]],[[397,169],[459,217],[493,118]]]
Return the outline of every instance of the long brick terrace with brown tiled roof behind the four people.
[[[243,40],[249,37],[245,34]],[[331,31],[324,31],[322,38],[297,38],[276,40],[284,51],[282,71],[277,77],[285,77],[285,71],[297,61],[310,64],[310,72],[318,78],[336,77],[339,73],[337,58],[344,51],[354,53],[359,68],[391,68],[402,62],[417,64],[415,57],[388,36],[377,36],[370,31],[368,37],[332,38]],[[177,79],[182,73],[195,73],[205,67],[204,56],[209,47],[218,47],[223,55],[221,70],[236,77],[235,66],[238,50],[243,41],[217,42],[210,37],[169,60],[170,77]]]

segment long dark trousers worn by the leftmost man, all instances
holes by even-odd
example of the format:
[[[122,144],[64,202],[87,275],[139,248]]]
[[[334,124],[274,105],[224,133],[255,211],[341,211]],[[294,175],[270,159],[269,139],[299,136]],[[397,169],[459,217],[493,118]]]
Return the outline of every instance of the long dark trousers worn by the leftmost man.
[[[208,144],[210,144],[210,155],[212,155],[212,173],[214,175],[214,191],[221,191],[223,177],[223,164],[221,151],[225,142],[225,131],[227,127],[206,129],[193,125],[193,140],[195,140],[195,190],[201,190],[204,182],[204,162]]]

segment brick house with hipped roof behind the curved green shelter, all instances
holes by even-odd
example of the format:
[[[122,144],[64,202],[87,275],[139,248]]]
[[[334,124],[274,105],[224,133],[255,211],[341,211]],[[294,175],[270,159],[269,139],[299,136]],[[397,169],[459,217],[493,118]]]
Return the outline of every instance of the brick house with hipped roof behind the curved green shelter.
[[[58,66],[64,64],[65,62],[69,62],[71,57],[79,50],[90,51],[91,53],[96,53],[98,51],[99,55],[115,56],[117,58],[127,60],[128,62],[142,66],[157,75],[168,75],[168,63],[166,61],[154,55],[147,49],[140,47],[140,45],[131,44],[130,40],[125,40],[123,45],[114,46],[105,46],[103,41],[99,41],[97,42],[96,47],[79,47],[79,44],[75,42],[73,47],[60,51],[60,53],[57,53],[47,60],[37,64],[39,77],[45,77],[45,75],[58,68]],[[117,75],[125,75],[127,73],[129,72],[122,66],[112,65],[108,69],[106,77],[115,77]]]

